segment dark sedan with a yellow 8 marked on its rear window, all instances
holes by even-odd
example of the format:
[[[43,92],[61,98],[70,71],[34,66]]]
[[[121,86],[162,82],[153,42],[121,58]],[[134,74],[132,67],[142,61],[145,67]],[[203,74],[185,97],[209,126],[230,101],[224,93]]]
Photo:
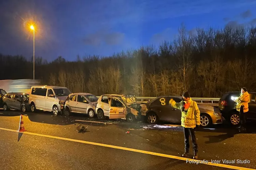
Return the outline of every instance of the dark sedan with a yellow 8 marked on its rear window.
[[[156,124],[158,121],[167,121],[181,123],[181,111],[169,105],[169,100],[181,102],[182,97],[163,96],[141,104],[141,115],[146,116],[146,121],[150,124]],[[218,108],[208,105],[198,104],[200,111],[200,125],[204,128],[212,124],[221,124],[222,116]]]

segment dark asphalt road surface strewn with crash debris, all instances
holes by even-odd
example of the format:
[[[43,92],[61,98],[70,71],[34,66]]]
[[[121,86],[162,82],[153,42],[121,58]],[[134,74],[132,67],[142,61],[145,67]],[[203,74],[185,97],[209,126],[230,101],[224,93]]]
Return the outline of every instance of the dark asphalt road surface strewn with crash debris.
[[[184,135],[177,125],[98,121],[97,118],[89,119],[87,115],[65,117],[40,112],[23,116],[27,131],[18,133],[20,114],[19,111],[0,110],[0,169],[200,170],[228,169],[226,165],[233,166],[230,167],[233,169],[256,169],[254,125],[246,134],[227,124],[196,132],[199,159],[221,160],[214,166],[182,160]],[[82,126],[88,126],[87,130],[79,131]],[[192,148],[190,153],[192,158]],[[222,162],[224,159],[247,159],[250,163],[225,164]]]

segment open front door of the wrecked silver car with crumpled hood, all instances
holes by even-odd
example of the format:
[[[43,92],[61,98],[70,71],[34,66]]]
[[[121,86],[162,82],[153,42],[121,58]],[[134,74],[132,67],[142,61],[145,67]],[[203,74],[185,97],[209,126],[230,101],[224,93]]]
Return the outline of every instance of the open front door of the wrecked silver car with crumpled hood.
[[[121,100],[117,98],[110,98],[110,107],[109,107],[109,119],[121,119],[125,118],[126,107]]]

